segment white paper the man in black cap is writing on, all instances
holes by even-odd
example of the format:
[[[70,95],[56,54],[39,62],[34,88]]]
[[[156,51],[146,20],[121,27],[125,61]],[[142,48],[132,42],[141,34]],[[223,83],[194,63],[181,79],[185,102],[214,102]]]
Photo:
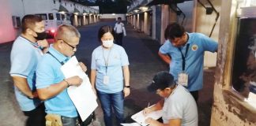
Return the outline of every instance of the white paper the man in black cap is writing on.
[[[154,111],[152,113],[149,113],[146,117],[143,114],[143,110],[141,110],[138,113],[135,113],[131,118],[135,120],[138,124],[141,124],[142,126],[146,126],[148,124],[145,123],[145,119],[148,117],[152,117],[154,120],[158,120],[160,117],[163,116],[163,110]]]

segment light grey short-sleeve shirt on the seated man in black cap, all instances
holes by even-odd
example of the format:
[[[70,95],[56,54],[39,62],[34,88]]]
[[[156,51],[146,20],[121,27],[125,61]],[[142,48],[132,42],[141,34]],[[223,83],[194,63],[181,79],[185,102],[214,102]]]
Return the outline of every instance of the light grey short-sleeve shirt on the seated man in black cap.
[[[181,85],[164,100],[164,124],[168,124],[171,119],[181,119],[182,126],[198,126],[197,104],[190,92]]]

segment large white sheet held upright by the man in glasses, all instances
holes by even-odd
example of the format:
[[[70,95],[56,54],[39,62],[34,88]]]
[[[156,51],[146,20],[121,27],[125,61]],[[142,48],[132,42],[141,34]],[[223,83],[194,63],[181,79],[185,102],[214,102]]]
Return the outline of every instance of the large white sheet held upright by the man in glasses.
[[[77,57],[73,56],[61,68],[65,78],[79,76],[83,83],[79,87],[70,86],[67,91],[73,104],[77,108],[77,112],[81,116],[81,120],[85,120],[98,106],[96,95],[92,91],[91,83],[88,76],[78,65]]]

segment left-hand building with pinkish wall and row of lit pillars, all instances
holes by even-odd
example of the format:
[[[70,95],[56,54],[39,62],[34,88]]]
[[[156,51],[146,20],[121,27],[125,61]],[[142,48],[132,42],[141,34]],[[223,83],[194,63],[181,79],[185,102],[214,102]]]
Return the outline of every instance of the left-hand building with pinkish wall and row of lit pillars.
[[[79,27],[99,21],[99,7],[83,6],[68,0],[1,0],[0,43],[12,42],[20,34],[21,19],[26,14],[65,13],[66,20]]]

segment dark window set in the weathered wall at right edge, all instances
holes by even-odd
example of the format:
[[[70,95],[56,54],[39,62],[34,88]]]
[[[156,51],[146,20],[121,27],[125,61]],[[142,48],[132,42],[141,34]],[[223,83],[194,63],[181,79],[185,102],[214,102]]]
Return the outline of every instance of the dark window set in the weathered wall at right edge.
[[[247,98],[256,84],[256,18],[240,18],[238,22],[232,88]]]

